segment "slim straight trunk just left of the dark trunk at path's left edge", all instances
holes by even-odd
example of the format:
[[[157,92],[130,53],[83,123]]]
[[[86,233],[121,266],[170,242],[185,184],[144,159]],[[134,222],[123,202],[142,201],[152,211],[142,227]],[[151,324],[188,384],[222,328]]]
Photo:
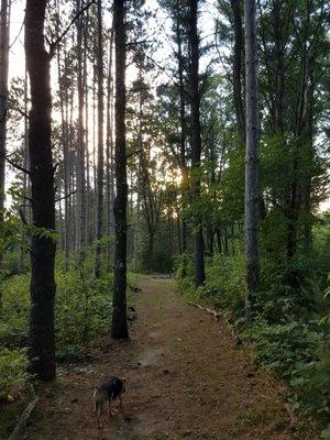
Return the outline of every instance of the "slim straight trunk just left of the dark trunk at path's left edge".
[[[95,249],[95,276],[100,277],[101,272],[101,244],[100,240],[103,232],[103,36],[102,36],[102,1],[98,0],[98,56],[97,56],[97,78],[98,78],[98,183],[97,183],[97,224]]]

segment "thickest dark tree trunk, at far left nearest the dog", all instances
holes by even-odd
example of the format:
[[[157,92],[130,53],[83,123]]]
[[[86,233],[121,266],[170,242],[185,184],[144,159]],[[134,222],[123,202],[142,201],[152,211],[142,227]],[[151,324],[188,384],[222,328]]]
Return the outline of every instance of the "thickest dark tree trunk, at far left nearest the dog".
[[[31,243],[30,358],[32,371],[43,381],[55,377],[55,230],[54,168],[51,142],[50,54],[44,44],[46,0],[28,0],[25,56],[31,84],[29,127],[33,226]],[[41,234],[40,232],[43,231]]]

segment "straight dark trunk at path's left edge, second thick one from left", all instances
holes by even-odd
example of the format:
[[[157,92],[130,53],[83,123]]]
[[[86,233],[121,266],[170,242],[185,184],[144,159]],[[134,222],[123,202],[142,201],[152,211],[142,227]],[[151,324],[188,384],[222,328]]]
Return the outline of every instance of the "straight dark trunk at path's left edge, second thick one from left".
[[[125,146],[125,0],[116,0],[116,182],[114,199],[114,270],[112,300],[112,338],[128,338],[127,320],[127,146]]]

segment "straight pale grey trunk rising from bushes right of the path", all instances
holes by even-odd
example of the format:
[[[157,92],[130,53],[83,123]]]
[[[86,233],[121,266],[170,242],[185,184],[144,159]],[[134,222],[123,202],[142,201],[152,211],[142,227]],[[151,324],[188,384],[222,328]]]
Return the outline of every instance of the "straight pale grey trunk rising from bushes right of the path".
[[[245,0],[246,154],[245,154],[245,265],[246,320],[258,289],[258,122],[255,0]]]

